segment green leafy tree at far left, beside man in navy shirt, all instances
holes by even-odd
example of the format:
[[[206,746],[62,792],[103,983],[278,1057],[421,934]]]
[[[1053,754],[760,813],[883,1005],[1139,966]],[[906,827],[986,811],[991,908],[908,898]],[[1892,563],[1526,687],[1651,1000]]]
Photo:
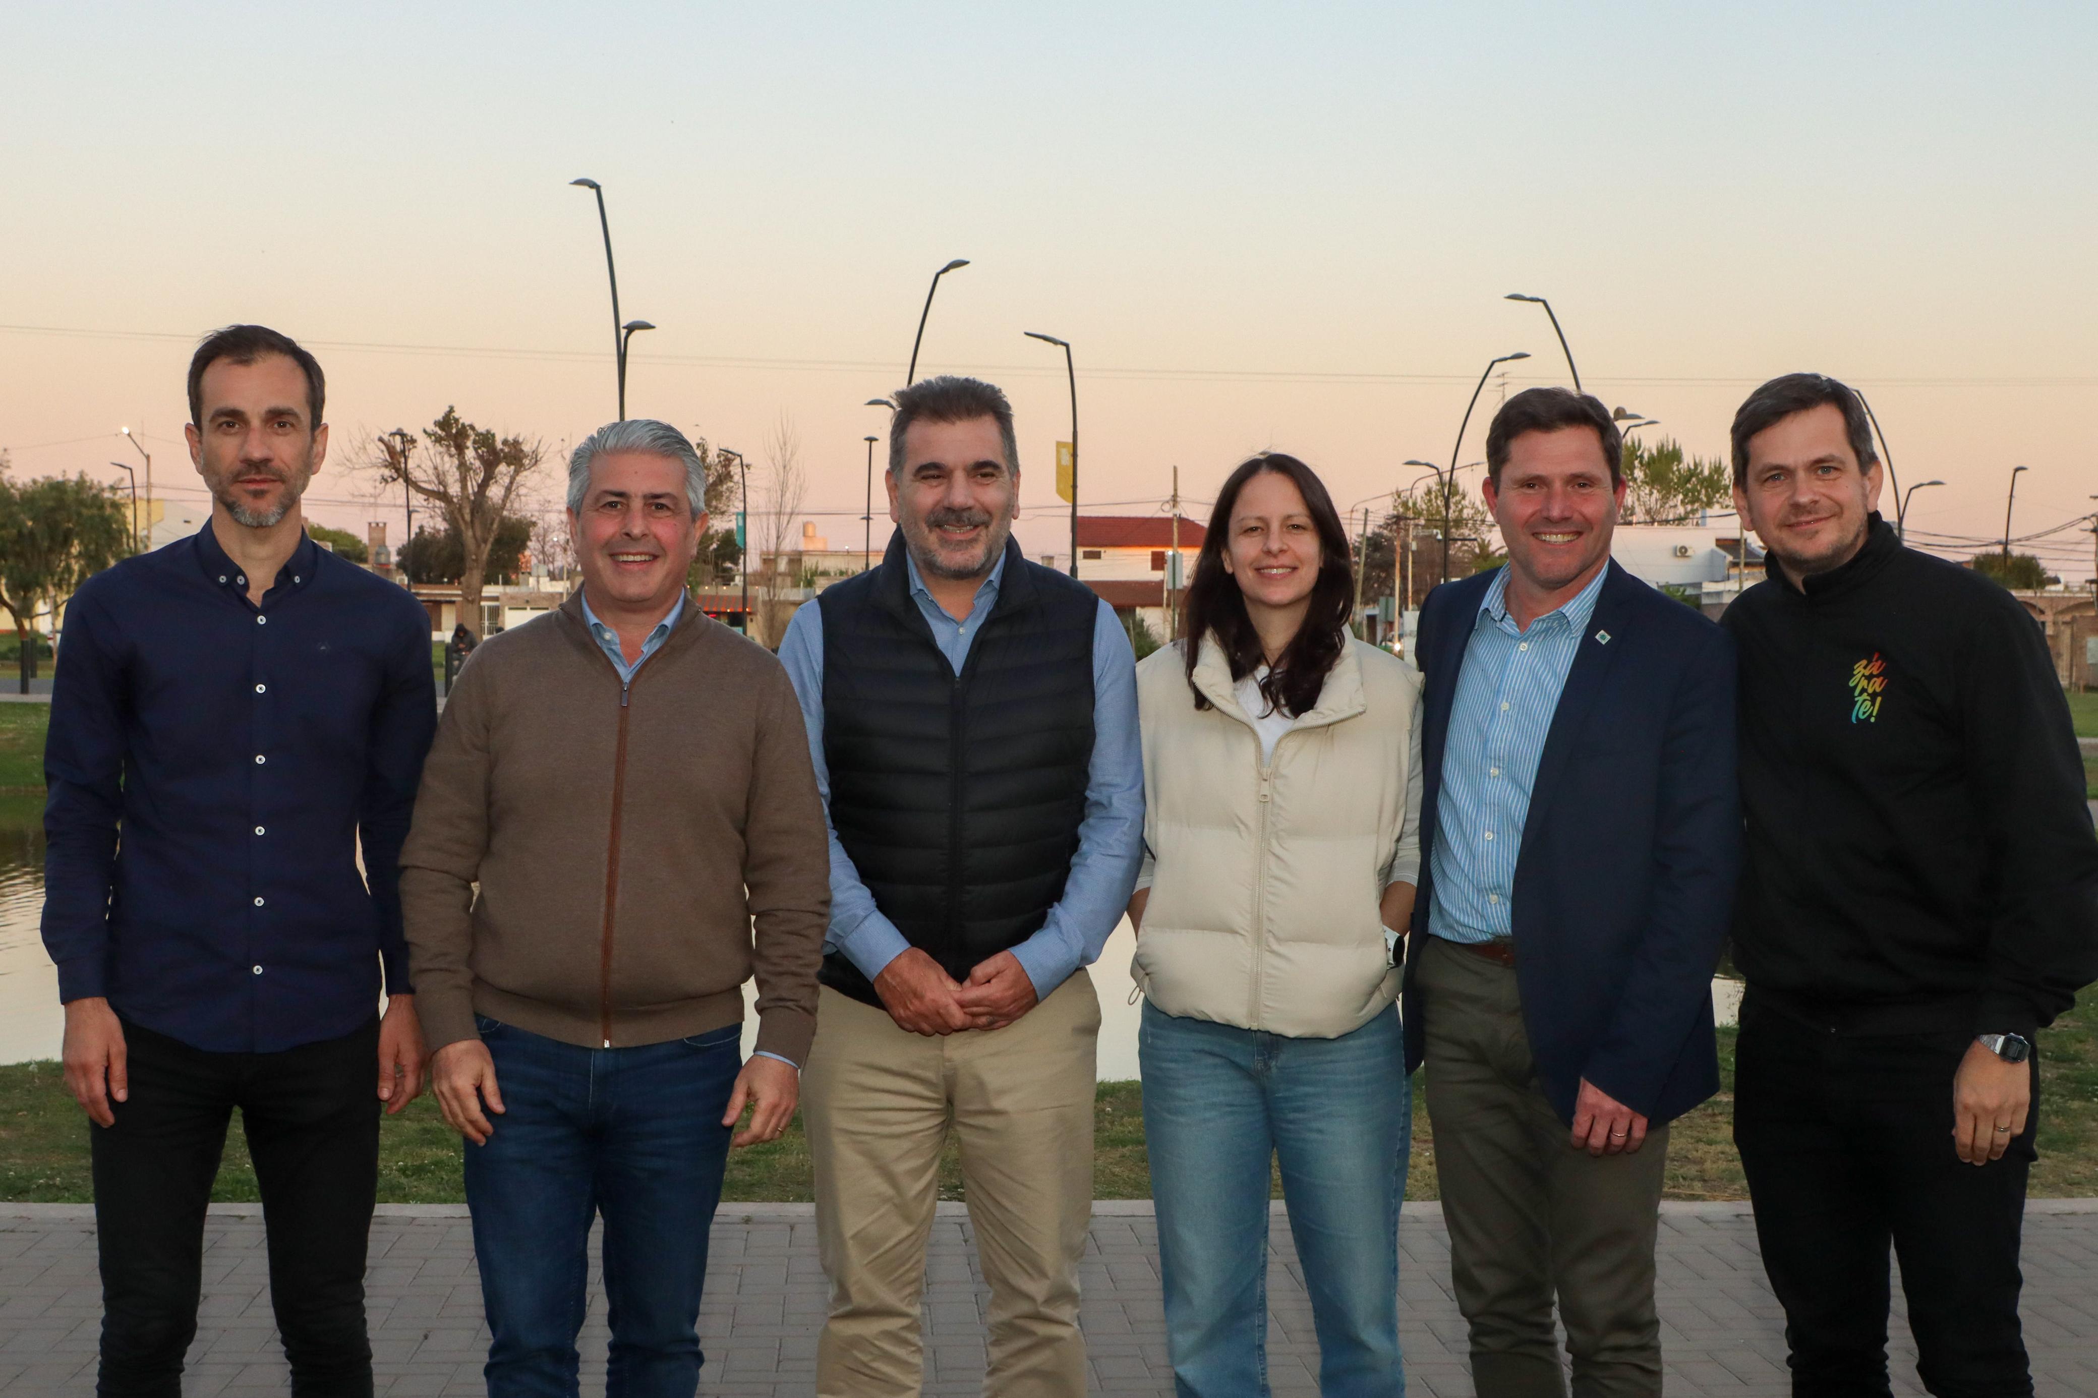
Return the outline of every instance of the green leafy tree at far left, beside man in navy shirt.
[[[130,554],[130,506],[113,487],[86,474],[21,485],[0,476],[0,607],[15,619],[21,693],[36,678],[31,621]]]

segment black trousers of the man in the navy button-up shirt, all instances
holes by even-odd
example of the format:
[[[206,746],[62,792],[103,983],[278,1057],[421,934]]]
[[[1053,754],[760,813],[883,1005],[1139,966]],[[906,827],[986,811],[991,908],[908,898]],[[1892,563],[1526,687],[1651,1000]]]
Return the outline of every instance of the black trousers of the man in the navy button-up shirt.
[[[378,1020],[281,1054],[206,1054],[124,1026],[130,1100],[90,1125],[103,1264],[94,1392],[180,1398],[197,1335],[204,1211],[241,1108],[262,1190],[269,1289],[300,1398],[369,1398],[365,1247],[378,1192]]]

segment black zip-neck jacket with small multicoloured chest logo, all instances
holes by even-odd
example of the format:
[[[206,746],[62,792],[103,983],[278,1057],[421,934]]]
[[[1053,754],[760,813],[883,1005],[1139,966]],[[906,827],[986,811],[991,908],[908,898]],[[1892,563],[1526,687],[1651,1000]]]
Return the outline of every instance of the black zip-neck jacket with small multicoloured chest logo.
[[[1861,1033],[2031,1033],[2098,976],[2098,840],[2039,626],[1995,581],[1865,548],[1727,609],[1754,995]]]

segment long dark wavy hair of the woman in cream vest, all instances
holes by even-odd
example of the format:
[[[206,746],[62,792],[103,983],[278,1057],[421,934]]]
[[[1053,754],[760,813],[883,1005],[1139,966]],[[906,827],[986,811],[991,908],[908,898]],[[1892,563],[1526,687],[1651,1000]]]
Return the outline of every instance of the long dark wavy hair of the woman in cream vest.
[[[1263,451],[1240,464],[1232,479],[1217,491],[1217,508],[1208,514],[1208,535],[1202,552],[1194,560],[1194,581],[1187,584],[1187,605],[1181,611],[1187,659],[1187,689],[1194,691],[1194,707],[1211,707],[1202,691],[1194,686],[1194,665],[1202,651],[1202,640],[1215,634],[1223,647],[1223,657],[1232,663],[1232,680],[1244,680],[1261,668],[1261,634],[1253,630],[1246,615],[1246,598],[1238,590],[1238,579],[1223,569],[1223,550],[1232,546],[1232,510],[1238,508],[1238,493],[1246,481],[1261,472],[1288,476],[1305,497],[1311,512],[1311,527],[1318,529],[1318,581],[1311,584],[1311,611],[1297,636],[1282,651],[1280,659],[1261,680],[1261,697],[1269,709],[1299,716],[1318,707],[1326,674],[1341,659],[1347,644],[1347,615],[1355,602],[1355,569],[1349,558],[1347,529],[1341,527],[1341,512],[1332,508],[1326,483],[1294,456]]]

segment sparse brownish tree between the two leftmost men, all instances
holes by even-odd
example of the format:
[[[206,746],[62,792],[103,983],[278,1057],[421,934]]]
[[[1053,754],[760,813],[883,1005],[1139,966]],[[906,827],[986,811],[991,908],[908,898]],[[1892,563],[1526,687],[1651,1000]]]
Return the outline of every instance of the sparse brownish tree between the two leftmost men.
[[[520,485],[545,462],[545,443],[537,437],[497,437],[462,418],[457,407],[447,407],[422,437],[418,443],[407,432],[378,432],[367,439],[363,460],[386,483],[407,481],[457,531],[466,552],[459,621],[480,638],[480,584],[489,550]]]

